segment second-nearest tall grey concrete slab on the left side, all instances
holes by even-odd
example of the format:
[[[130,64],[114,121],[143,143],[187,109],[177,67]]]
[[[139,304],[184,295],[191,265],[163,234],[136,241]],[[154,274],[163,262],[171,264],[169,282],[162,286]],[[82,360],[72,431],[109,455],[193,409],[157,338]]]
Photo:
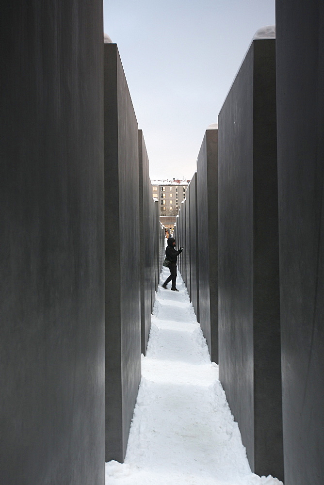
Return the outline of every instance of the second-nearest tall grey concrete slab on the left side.
[[[104,45],[106,461],[125,457],[141,379],[138,126],[116,44]]]

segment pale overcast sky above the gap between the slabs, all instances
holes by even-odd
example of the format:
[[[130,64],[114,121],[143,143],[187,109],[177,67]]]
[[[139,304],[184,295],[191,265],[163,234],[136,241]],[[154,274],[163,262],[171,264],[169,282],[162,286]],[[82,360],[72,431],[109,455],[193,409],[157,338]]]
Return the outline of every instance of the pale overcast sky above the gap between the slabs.
[[[192,178],[255,32],[275,24],[275,0],[104,0],[151,178]]]

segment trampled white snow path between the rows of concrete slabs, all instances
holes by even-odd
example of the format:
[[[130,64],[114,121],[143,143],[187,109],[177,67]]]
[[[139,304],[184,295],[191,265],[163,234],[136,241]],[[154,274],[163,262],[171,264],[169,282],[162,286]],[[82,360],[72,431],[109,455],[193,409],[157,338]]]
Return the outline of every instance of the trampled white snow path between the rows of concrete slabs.
[[[177,288],[158,289],[126,460],[106,464],[106,485],[281,484],[251,473],[180,275]]]

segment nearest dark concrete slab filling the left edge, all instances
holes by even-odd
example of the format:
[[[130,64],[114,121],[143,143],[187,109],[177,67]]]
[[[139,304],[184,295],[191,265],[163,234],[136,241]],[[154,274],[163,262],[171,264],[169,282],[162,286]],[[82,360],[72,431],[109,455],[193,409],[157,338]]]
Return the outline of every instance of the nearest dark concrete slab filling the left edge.
[[[104,484],[102,29],[1,5],[2,485]]]

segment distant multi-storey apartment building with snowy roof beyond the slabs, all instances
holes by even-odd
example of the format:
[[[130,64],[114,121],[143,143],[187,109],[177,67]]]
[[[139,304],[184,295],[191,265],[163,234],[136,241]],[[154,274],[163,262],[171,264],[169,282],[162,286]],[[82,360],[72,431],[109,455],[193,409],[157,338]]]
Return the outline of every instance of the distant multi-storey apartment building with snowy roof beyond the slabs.
[[[190,180],[151,180],[152,195],[159,201],[160,216],[176,216]]]

